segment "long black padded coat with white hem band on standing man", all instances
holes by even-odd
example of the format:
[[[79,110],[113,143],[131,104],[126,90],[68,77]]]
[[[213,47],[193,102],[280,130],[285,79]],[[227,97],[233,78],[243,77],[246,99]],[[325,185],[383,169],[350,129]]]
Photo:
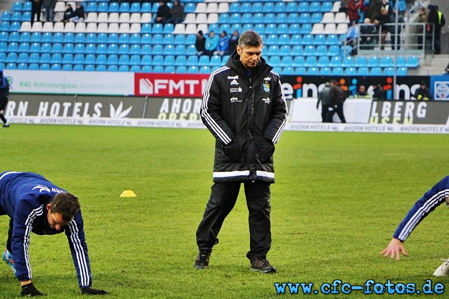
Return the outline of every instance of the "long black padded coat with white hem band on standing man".
[[[279,75],[263,58],[250,78],[234,51],[204,91],[201,117],[216,138],[214,182],[274,183],[273,152],[287,120]]]

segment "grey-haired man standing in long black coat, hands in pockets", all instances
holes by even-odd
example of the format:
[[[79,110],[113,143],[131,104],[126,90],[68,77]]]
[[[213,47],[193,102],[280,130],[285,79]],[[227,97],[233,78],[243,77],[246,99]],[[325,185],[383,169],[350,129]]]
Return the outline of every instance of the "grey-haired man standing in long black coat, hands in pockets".
[[[275,273],[266,260],[271,247],[270,184],[273,152],[287,120],[279,75],[261,57],[260,35],[247,30],[224,67],[213,72],[204,91],[201,117],[216,138],[214,185],[197,230],[196,269],[207,269],[223,221],[244,184],[249,211],[251,271]]]

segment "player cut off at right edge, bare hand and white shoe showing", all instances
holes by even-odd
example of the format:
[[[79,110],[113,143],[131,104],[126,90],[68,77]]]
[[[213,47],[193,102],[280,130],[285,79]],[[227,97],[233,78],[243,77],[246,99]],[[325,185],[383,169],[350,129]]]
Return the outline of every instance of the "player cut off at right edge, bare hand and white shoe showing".
[[[397,260],[400,259],[401,253],[407,256],[407,252],[405,251],[402,242],[409,237],[421,220],[444,202],[446,202],[446,205],[449,207],[449,176],[446,176],[439,181],[415,203],[413,208],[396,229],[390,244],[387,248],[381,251],[380,254],[383,254],[386,257],[390,256],[392,259],[396,257]],[[435,271],[435,276],[446,276],[449,274],[449,259],[442,260],[445,262]]]

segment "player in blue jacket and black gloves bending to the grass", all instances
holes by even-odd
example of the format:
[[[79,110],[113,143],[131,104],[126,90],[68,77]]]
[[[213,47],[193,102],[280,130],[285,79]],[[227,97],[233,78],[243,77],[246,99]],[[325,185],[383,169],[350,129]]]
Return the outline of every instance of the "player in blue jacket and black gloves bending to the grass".
[[[89,256],[84,239],[78,198],[31,172],[0,173],[0,215],[8,215],[9,231],[2,254],[22,286],[22,296],[42,295],[31,282],[28,246],[30,233],[54,235],[65,232],[75,264],[81,294],[104,295],[92,289]]]

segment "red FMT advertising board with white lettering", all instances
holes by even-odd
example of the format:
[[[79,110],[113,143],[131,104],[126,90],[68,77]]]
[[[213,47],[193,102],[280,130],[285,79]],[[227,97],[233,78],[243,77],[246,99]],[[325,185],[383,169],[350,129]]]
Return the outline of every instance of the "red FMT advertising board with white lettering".
[[[203,97],[208,74],[135,73],[134,95],[149,97]]]

